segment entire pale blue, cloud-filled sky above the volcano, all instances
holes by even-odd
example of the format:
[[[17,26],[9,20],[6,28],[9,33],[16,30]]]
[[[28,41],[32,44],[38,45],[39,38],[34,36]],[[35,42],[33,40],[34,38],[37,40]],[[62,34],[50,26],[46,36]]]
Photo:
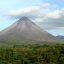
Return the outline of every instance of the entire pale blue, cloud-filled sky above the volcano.
[[[52,35],[64,35],[64,0],[0,0],[0,31],[23,16]]]

